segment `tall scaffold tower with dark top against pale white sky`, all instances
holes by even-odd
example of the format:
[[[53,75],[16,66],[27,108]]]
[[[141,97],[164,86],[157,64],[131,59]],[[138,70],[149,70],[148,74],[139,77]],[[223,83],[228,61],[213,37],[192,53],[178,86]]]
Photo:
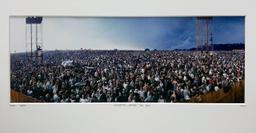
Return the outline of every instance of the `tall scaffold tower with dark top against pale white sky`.
[[[43,17],[26,17],[25,42],[26,56],[31,61],[41,62],[43,60]]]

